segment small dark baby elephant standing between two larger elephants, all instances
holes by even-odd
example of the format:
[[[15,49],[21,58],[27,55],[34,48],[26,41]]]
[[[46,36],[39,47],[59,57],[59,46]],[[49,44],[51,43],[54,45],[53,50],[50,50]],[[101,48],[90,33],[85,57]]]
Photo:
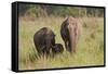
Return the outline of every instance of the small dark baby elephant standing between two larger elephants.
[[[55,46],[52,47],[53,54],[63,53],[63,51],[64,51],[64,48],[62,44],[55,44]]]

